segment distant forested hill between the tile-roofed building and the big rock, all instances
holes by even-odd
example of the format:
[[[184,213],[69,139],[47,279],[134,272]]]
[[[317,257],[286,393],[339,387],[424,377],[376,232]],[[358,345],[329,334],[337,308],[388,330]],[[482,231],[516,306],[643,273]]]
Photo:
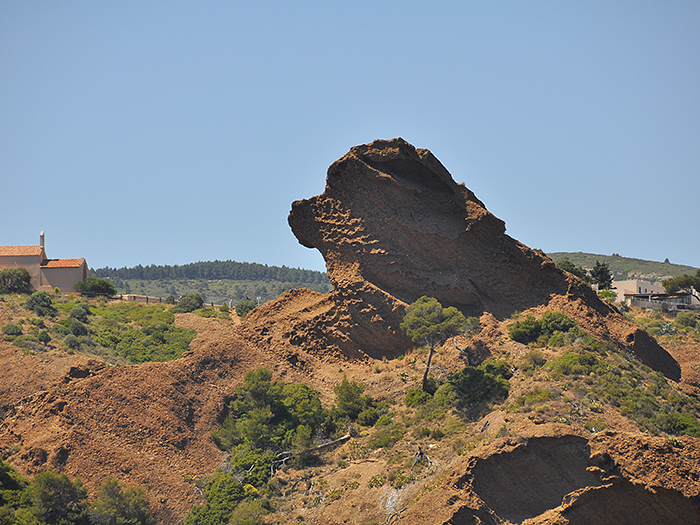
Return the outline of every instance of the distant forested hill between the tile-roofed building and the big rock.
[[[217,304],[245,298],[266,302],[293,288],[324,293],[333,289],[323,272],[236,261],[105,267],[90,270],[90,275],[109,279],[120,294],[178,298],[198,293],[205,301]]]

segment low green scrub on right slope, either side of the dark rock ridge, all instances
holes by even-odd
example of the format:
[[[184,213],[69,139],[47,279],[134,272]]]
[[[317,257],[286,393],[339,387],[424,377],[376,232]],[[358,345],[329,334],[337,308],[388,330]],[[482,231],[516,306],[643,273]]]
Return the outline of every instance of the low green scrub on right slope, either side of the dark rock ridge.
[[[557,320],[554,324],[550,322],[553,319]],[[520,380],[529,378],[532,388],[512,400],[510,410],[534,410],[549,414],[555,421],[579,421],[596,431],[607,425],[599,415],[615,410],[654,435],[700,437],[700,403],[695,398],[681,393],[662,374],[615,345],[596,341],[566,319],[554,312],[539,320],[528,316],[513,325],[510,336],[530,346],[517,368]],[[660,312],[637,319],[657,336],[675,334],[679,329],[692,334],[693,326],[697,326],[692,314],[675,322]],[[540,350],[545,347],[556,351],[555,356],[546,359]]]

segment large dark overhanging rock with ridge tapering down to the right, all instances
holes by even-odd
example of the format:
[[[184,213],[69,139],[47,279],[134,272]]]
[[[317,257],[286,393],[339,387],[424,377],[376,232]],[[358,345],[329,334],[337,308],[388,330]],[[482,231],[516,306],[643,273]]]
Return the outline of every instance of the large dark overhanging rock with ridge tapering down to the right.
[[[327,322],[315,319],[314,333],[346,355],[405,349],[403,309],[428,295],[501,320],[556,304],[596,336],[680,378],[678,363],[653,339],[587,284],[506,235],[503,221],[432,153],[403,139],[352,148],[328,169],[323,194],[292,204],[289,225],[302,245],[321,252],[335,287]],[[299,332],[309,323],[297,323]]]

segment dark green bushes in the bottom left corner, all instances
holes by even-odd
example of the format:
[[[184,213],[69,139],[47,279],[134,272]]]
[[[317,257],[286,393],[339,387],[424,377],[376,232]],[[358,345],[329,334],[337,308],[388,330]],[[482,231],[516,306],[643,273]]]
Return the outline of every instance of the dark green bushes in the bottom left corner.
[[[0,523],[2,525],[155,525],[150,503],[140,487],[124,489],[107,478],[88,501],[80,478],[50,470],[33,481],[0,459]]]

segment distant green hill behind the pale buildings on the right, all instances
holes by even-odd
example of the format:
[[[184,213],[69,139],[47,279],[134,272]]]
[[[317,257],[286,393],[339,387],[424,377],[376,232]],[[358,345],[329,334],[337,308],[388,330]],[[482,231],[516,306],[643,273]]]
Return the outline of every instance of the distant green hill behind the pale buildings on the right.
[[[621,257],[619,255],[599,255],[595,253],[583,252],[554,252],[548,253],[556,263],[564,257],[576,266],[591,269],[596,261],[606,263],[617,281],[627,279],[644,279],[647,281],[658,281],[670,277],[678,277],[683,274],[695,275],[697,268],[682,264],[672,264],[667,262],[645,261],[644,259],[633,259],[631,257]]]

